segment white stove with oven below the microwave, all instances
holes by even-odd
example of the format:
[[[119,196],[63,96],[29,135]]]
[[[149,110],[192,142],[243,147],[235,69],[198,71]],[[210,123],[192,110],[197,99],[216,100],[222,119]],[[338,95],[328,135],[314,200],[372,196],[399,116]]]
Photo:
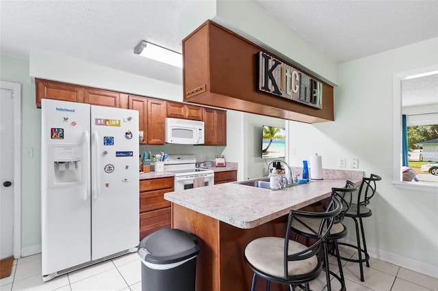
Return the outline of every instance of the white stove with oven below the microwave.
[[[194,154],[170,154],[164,161],[164,171],[175,173],[175,191],[214,184],[214,171],[196,168]]]

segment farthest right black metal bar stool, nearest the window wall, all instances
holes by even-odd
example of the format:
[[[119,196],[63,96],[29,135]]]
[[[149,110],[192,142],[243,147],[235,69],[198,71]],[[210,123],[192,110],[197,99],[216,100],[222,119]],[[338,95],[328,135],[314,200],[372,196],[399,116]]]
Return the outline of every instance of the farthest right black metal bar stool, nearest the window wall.
[[[368,255],[367,244],[365,242],[365,232],[363,231],[362,218],[372,216],[372,211],[370,208],[368,208],[368,204],[370,204],[370,199],[376,193],[376,181],[380,181],[380,180],[382,180],[382,178],[375,174],[371,174],[370,178],[362,178],[362,183],[357,194],[356,203],[352,203],[353,202],[352,195],[350,195],[349,199],[346,198],[348,200],[348,204],[350,207],[346,212],[345,217],[351,217],[355,221],[357,245],[352,245],[350,243],[339,243],[339,245],[346,245],[348,247],[352,247],[356,249],[359,255],[359,260],[355,260],[352,258],[344,258],[344,257],[341,257],[341,259],[346,260],[348,262],[359,263],[359,269],[361,272],[361,281],[365,281],[365,279],[363,278],[363,265],[362,265],[363,262],[365,262],[366,266],[370,268],[370,262],[369,262],[370,255]],[[360,234],[359,234],[359,226],[361,228]]]

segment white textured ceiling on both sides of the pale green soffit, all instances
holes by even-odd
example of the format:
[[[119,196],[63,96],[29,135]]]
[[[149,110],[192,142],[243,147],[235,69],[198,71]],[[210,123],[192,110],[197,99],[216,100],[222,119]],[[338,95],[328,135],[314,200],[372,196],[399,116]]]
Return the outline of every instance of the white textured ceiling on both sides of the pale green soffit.
[[[188,1],[0,0],[0,52],[64,55],[181,85],[181,69],[138,57],[133,47],[148,40],[181,52],[179,15]],[[255,1],[339,62],[438,37],[437,0]]]

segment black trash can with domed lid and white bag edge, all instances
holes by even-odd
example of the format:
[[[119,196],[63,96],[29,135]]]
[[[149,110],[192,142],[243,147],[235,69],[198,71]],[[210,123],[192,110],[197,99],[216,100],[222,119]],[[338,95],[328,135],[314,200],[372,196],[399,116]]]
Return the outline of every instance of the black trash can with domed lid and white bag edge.
[[[157,230],[138,245],[142,291],[194,291],[198,239],[183,230]]]

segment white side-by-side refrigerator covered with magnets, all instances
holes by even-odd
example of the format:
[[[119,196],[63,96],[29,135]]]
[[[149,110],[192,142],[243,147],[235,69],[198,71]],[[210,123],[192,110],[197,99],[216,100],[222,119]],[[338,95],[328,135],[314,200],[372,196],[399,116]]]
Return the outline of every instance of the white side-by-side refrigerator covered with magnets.
[[[138,111],[41,100],[42,279],[136,251]]]

